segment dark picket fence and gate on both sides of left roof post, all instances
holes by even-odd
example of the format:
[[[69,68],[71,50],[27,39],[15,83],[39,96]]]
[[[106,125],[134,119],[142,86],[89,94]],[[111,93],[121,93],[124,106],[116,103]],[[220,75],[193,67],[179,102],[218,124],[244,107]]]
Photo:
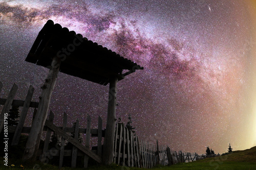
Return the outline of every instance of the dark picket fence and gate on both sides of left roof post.
[[[2,90],[3,84],[0,82],[0,91]],[[34,88],[32,86],[29,87],[27,96],[25,101],[22,100],[14,100],[14,96],[16,94],[18,87],[16,84],[13,84],[7,99],[0,99],[0,105],[4,105],[0,114],[0,132],[4,127],[4,113],[9,113],[11,106],[20,106],[22,107],[22,112],[20,113],[19,121],[17,126],[8,126],[8,133],[14,133],[12,141],[9,141],[11,145],[17,145],[19,142],[20,135],[22,133],[30,133],[31,127],[24,127],[25,119],[29,110],[29,107],[34,108],[33,117],[36,114],[36,108],[38,107],[37,102],[31,102],[32,95],[34,92]],[[71,167],[76,167],[77,154],[84,156],[84,167],[88,166],[89,157],[93,158],[97,162],[101,162],[101,142],[102,137],[104,137],[104,130],[102,130],[102,119],[98,117],[98,129],[91,129],[91,117],[88,115],[87,118],[87,128],[79,128],[79,120],[76,120],[75,128],[67,127],[67,114],[63,115],[63,125],[62,127],[57,127],[53,124],[54,114],[50,111],[49,119],[46,120],[43,131],[46,131],[46,138],[44,142],[44,149],[42,151],[38,151],[37,156],[42,162],[47,162],[53,156],[59,157],[59,167],[62,166],[63,156],[72,156]],[[33,122],[33,119],[32,119]],[[59,136],[61,136],[61,145],[58,148],[57,145],[55,149],[49,150],[49,141],[52,132],[56,132]],[[67,133],[74,133],[74,138],[71,137]],[[78,133],[86,134],[85,145],[82,145],[78,142]],[[90,135],[87,135],[90,134]],[[97,150],[90,150],[90,137],[98,137],[97,140]],[[71,151],[64,150],[65,140],[69,141],[73,145],[73,149]],[[79,149],[79,151],[78,151]]]

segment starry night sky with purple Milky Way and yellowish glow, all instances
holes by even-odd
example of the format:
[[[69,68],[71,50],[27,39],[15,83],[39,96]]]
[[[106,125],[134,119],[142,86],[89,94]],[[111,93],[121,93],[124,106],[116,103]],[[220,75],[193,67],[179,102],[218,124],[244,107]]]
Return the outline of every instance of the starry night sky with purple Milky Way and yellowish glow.
[[[175,151],[256,145],[256,1],[0,1],[0,93],[38,102],[49,69],[25,61],[48,19],[144,67],[118,82],[117,117]],[[50,109],[106,122],[108,86],[59,73]],[[26,126],[31,125],[30,109]]]

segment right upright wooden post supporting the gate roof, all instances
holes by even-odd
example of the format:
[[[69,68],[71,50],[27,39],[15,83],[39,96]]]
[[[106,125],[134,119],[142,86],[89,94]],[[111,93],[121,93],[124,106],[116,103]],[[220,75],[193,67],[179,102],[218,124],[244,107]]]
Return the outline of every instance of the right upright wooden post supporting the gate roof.
[[[108,117],[106,119],[106,130],[103,144],[102,163],[109,165],[114,158],[114,137],[116,124],[116,86],[117,78],[110,80]]]

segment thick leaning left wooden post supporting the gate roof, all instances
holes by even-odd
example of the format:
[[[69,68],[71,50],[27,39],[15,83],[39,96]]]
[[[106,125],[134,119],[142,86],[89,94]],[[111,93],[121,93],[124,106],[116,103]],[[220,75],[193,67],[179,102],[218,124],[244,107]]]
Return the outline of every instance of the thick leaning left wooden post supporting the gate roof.
[[[42,129],[44,128],[46,122],[52,91],[59,72],[59,66],[60,60],[57,57],[54,57],[51,63],[49,74],[45,80],[45,84],[41,87],[42,93],[41,96],[39,96],[38,110],[31,126],[25,152],[23,155],[24,161],[29,159],[36,159],[36,152],[39,148]]]

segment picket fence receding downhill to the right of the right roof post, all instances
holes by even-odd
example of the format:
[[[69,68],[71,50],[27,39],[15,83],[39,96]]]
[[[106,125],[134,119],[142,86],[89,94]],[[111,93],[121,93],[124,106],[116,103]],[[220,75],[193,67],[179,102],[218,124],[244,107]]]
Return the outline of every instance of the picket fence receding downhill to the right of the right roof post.
[[[197,153],[182,153],[170,150],[167,145],[159,145],[139,140],[123,123],[117,123],[114,143],[114,163],[130,167],[151,168],[157,164],[172,165],[203,159]]]

